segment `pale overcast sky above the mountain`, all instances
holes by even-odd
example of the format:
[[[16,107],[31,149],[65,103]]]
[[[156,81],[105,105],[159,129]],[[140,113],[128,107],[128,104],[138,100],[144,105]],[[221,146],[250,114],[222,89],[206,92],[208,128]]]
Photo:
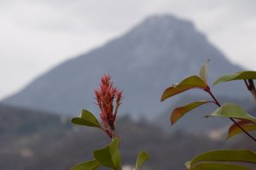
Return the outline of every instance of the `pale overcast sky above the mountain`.
[[[256,70],[254,0],[0,0],[0,99],[151,14],[192,20],[234,63]]]

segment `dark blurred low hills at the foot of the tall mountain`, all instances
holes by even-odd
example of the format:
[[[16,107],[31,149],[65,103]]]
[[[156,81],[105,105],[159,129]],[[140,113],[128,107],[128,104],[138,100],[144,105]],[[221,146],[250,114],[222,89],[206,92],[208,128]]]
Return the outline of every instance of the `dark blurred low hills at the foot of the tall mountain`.
[[[133,122],[128,116],[119,119],[117,129],[122,164],[134,166],[137,153],[146,150],[150,160],[144,170],[184,169],[185,161],[206,150],[255,148],[247,137],[212,141],[182,132],[167,135],[159,127],[143,120]],[[6,105],[0,105],[0,134],[0,169],[4,170],[70,169],[90,160],[93,150],[110,142],[98,129],[73,125],[64,116]]]

